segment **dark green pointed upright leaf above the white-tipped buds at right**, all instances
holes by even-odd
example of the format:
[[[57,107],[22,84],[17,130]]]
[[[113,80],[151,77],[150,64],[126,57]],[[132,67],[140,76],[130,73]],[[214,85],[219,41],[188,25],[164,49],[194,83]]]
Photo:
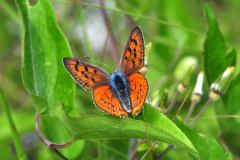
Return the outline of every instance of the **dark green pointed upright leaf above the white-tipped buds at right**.
[[[236,51],[226,54],[224,37],[218,27],[214,13],[208,5],[205,6],[208,32],[204,42],[204,71],[208,85],[211,85],[218,76],[228,67],[235,65]]]

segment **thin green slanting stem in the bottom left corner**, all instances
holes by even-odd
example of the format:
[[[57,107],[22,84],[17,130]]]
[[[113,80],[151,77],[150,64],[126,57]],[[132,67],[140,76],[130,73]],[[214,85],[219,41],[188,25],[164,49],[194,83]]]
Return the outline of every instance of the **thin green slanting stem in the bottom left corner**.
[[[12,132],[13,143],[14,143],[15,148],[16,148],[17,156],[18,156],[19,159],[25,159],[27,156],[26,156],[23,144],[21,142],[19,133],[17,131],[17,128],[16,128],[16,126],[14,124],[14,121],[12,119],[12,114],[11,114],[11,110],[10,110],[10,106],[9,106],[7,97],[5,96],[2,88],[0,88],[0,104],[3,107],[4,113],[6,114],[6,118],[7,118],[7,121],[9,123],[9,127],[10,127],[11,132]]]

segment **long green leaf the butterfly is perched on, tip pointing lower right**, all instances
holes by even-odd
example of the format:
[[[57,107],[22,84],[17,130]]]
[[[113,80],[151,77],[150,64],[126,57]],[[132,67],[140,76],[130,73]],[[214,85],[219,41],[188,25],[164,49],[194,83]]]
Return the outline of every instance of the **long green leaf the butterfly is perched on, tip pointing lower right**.
[[[144,119],[145,122],[142,120]],[[75,139],[147,138],[185,148],[197,155],[191,141],[164,114],[146,105],[138,119],[112,116],[82,116],[66,118]]]

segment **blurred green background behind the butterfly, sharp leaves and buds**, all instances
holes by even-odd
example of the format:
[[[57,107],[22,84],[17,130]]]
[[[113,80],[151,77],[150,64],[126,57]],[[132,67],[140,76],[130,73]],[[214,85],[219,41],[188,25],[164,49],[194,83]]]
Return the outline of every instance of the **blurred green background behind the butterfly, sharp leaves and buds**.
[[[100,2],[101,0],[51,0],[57,23],[66,36],[74,57],[96,64],[109,73],[115,70],[116,64],[112,59],[111,38],[107,25],[115,37],[118,58],[124,50],[130,31],[134,26],[140,26],[144,33],[145,44],[152,43],[147,56],[149,67],[146,75],[150,84],[150,99],[154,99],[156,92],[161,94],[166,88],[169,89],[169,99],[171,99],[178,82],[183,79],[190,64],[196,66],[191,75],[192,84],[195,83],[198,72],[203,70],[203,43],[208,29],[204,13],[206,2],[216,15],[227,50],[235,48],[238,53],[240,51],[239,0],[105,0],[105,11],[109,20],[107,25],[100,11]],[[37,0],[31,0],[29,3],[35,5]],[[10,103],[12,116],[28,158],[59,159],[58,155],[47,149],[34,133],[36,110],[21,78],[23,51],[21,28],[21,15],[15,1],[0,0],[0,87]],[[239,57],[238,54],[237,71],[239,71]],[[208,90],[207,85],[205,89]],[[184,96],[180,97],[177,104],[181,104],[183,99]],[[80,115],[101,114],[92,104],[90,92],[85,92],[80,87],[77,88],[74,106]],[[182,117],[186,111],[187,109],[184,108]],[[202,119],[195,129],[199,133],[217,139],[225,150],[238,159],[239,118],[234,122],[227,118],[221,119],[224,122],[219,122],[214,118],[217,113],[224,114],[224,112],[224,108],[221,107],[219,110],[210,108],[205,116],[213,117]],[[236,109],[231,114],[239,115],[240,109]],[[73,146],[70,151],[61,152],[72,159],[106,159],[106,157],[128,159],[131,155],[129,145],[132,143],[128,140],[87,140],[75,143],[77,147]],[[118,148],[116,145],[123,147]],[[124,146],[128,147],[124,148]],[[165,146],[161,144],[156,152],[161,153]],[[142,153],[141,147],[144,146],[139,147],[139,157],[146,152],[143,149]],[[164,159],[179,159],[179,156],[192,159],[181,149],[169,152]],[[0,107],[0,159],[17,159],[11,130],[2,106]]]

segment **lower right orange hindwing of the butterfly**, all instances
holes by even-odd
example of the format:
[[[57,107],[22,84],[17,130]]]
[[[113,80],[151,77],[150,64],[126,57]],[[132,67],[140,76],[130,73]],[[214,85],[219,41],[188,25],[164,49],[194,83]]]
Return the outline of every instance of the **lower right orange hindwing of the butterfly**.
[[[130,99],[132,115],[136,116],[143,107],[148,93],[148,83],[140,72],[134,72],[128,77],[130,86]]]

